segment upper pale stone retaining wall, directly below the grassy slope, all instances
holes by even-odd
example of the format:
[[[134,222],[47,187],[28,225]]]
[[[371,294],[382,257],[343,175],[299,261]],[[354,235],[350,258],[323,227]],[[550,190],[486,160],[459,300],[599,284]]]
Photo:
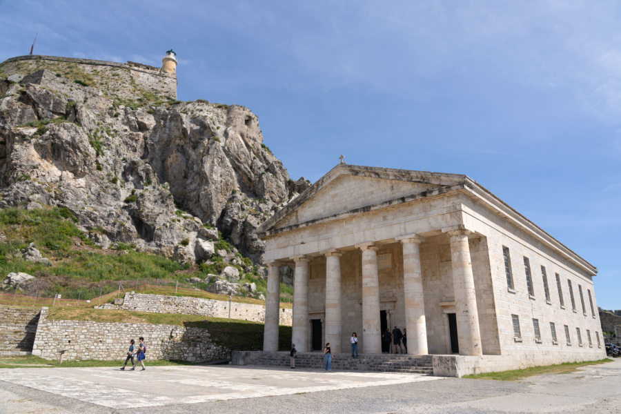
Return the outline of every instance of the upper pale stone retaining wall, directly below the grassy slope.
[[[210,317],[229,317],[228,301],[204,299],[201,297],[146,295],[126,293],[122,304],[103,304],[99,309],[122,309],[124,311],[180,313],[183,315],[204,315]],[[291,326],[293,311],[279,309],[279,324]],[[265,306],[230,302],[230,318],[246,321],[264,322]]]

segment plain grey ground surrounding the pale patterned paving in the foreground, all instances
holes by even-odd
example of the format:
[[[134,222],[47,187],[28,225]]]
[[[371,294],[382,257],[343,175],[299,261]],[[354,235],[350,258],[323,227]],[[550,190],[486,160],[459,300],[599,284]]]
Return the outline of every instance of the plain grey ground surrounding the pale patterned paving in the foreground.
[[[48,369],[58,375],[67,368]],[[260,377],[263,371],[257,369],[253,375]],[[312,374],[324,375],[326,382],[333,375]],[[617,359],[574,373],[529,377],[522,382],[446,378],[117,410],[0,381],[0,413],[619,413],[620,380],[621,359]],[[139,382],[148,386],[147,377]]]

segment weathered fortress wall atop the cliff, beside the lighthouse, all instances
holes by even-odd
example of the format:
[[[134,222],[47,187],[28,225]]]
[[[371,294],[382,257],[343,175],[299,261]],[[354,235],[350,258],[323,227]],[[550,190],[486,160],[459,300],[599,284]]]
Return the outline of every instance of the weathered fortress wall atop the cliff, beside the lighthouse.
[[[134,99],[153,93],[177,99],[177,75],[159,72],[159,68],[139,63],[117,63],[56,56],[18,56],[0,63],[0,77],[30,75],[47,69],[69,79],[89,79],[87,83],[108,98]],[[83,75],[83,76],[81,76]]]

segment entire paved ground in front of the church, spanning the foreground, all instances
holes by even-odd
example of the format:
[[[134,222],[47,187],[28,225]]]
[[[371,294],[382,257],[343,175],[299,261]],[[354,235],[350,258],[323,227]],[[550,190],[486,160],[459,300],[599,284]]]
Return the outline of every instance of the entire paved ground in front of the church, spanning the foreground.
[[[0,370],[0,413],[618,413],[621,360],[522,382],[235,366]]]

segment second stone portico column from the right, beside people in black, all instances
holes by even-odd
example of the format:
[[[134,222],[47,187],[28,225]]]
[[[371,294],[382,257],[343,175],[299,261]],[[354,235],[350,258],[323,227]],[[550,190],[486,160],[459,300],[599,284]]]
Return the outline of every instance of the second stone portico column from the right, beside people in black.
[[[417,237],[408,237],[401,239],[400,242],[403,244],[403,293],[408,330],[408,354],[426,355],[428,353],[427,326],[418,248],[422,240]]]

